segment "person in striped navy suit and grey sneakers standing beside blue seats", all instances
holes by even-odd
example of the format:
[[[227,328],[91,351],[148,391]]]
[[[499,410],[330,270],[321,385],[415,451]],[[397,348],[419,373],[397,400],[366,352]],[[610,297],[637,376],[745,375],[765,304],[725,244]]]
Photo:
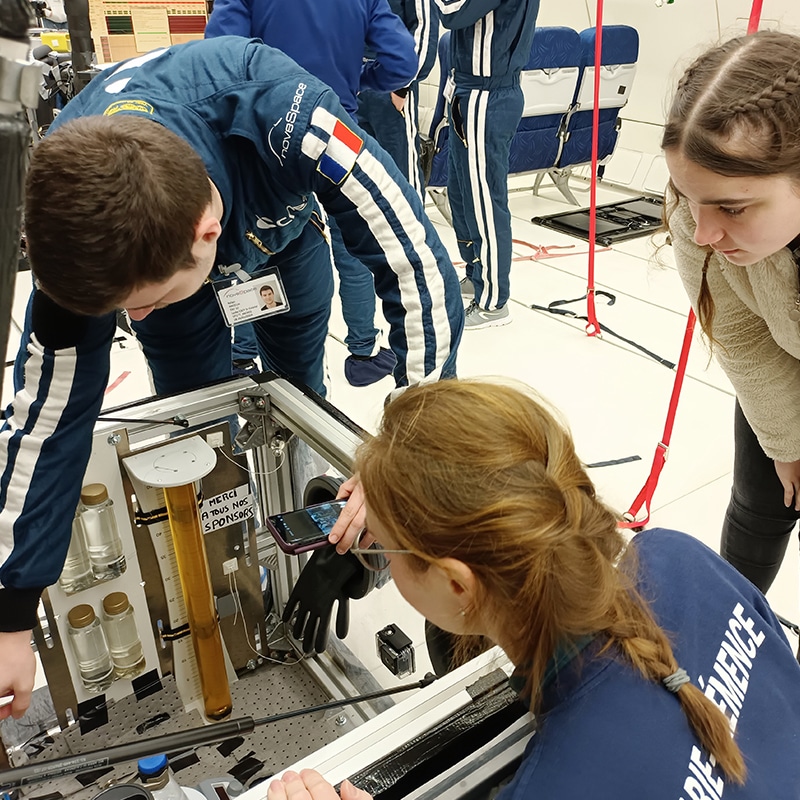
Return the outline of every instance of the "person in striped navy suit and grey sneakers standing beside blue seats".
[[[508,158],[522,118],[519,85],[539,0],[436,0],[452,31],[447,194],[471,301],[465,330],[511,321]]]

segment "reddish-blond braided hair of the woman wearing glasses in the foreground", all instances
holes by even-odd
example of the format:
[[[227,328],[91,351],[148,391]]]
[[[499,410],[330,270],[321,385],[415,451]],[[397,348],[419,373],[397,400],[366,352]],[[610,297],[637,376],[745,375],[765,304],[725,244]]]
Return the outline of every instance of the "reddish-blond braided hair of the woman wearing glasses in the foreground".
[[[617,516],[597,497],[566,426],[527,387],[412,387],[386,407],[356,469],[370,514],[413,554],[410,568],[444,558],[469,566],[477,590],[466,620],[480,614],[513,632],[504,645],[525,665],[534,713],[553,653],[587,635],[654,683],[678,669],[636,589],[635,552]],[[726,717],[691,683],[676,696],[703,746],[743,783]]]

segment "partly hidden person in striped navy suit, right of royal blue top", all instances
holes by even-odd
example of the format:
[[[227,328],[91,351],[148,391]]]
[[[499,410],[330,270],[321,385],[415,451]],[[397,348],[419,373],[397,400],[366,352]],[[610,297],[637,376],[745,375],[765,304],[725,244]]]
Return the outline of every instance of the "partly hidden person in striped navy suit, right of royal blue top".
[[[414,36],[417,73],[399,92],[363,90],[358,96],[358,122],[395,160],[408,182],[422,196],[424,183],[419,159],[419,85],[436,62],[439,17],[433,0],[389,0],[392,11]],[[405,103],[400,101],[405,99]]]

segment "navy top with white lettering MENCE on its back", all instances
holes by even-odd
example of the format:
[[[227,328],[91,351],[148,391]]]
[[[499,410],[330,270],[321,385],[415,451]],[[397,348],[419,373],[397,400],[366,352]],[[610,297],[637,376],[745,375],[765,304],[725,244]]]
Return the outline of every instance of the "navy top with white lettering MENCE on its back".
[[[678,666],[729,720],[745,784],[725,780],[678,697],[617,647],[600,652],[600,633],[545,683],[541,725],[497,800],[796,800],[800,665],[766,598],[684,533],[654,528],[631,545]]]

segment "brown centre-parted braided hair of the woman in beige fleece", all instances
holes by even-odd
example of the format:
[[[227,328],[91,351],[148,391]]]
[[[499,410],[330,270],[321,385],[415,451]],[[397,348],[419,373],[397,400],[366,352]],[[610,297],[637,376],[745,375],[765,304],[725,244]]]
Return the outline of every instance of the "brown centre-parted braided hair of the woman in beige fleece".
[[[759,31],[703,53],[678,82],[661,146],[720,175],[786,175],[800,185],[800,37]],[[705,272],[697,305],[713,344]]]

